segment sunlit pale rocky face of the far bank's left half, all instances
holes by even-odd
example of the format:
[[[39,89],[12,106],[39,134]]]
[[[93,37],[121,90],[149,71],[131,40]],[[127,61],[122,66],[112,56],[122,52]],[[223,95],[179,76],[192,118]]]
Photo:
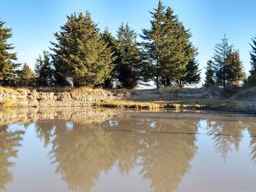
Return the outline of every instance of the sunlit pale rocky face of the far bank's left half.
[[[15,107],[85,107],[97,102],[129,99],[127,91],[1,88],[0,103]]]

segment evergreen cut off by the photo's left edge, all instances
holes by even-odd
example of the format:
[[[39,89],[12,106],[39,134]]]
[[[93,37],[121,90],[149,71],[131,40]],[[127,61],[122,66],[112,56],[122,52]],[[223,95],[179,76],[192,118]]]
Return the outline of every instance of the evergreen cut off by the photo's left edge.
[[[17,60],[16,53],[10,53],[14,47],[7,43],[12,37],[12,29],[4,28],[4,24],[5,22],[0,20],[0,85],[14,85],[20,64],[13,63]]]

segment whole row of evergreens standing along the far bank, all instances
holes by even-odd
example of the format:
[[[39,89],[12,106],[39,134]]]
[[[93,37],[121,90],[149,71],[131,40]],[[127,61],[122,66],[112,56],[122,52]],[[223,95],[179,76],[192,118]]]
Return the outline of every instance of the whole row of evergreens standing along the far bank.
[[[50,51],[37,58],[35,70],[17,64],[14,47],[7,42],[12,29],[0,20],[0,85],[2,86],[88,86],[136,88],[154,81],[162,86],[194,85],[200,82],[197,48],[192,34],[161,1],[151,12],[151,27],[137,34],[121,23],[116,36],[101,32],[89,12],[73,13],[56,32]],[[143,39],[138,42],[138,36]],[[238,50],[227,37],[217,44],[206,67],[206,86],[241,85],[256,82],[256,38],[252,39],[252,70],[246,79]]]

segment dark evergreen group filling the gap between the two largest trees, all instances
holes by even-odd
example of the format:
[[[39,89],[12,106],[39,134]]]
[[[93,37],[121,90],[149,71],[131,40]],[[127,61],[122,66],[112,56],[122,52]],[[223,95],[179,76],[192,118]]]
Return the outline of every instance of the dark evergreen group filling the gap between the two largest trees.
[[[102,39],[113,52],[113,70],[105,79],[105,88],[135,88],[139,83],[151,80],[150,63],[136,40],[137,34],[128,24],[121,24],[118,28],[117,39],[108,29],[102,34]]]

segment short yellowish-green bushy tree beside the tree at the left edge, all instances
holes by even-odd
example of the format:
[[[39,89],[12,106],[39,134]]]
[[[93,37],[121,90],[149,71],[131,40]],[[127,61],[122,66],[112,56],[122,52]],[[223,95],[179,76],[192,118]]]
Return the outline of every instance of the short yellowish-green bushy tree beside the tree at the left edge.
[[[23,69],[20,71],[20,85],[21,86],[34,86],[36,82],[36,75],[30,69],[28,64],[24,64]]]

